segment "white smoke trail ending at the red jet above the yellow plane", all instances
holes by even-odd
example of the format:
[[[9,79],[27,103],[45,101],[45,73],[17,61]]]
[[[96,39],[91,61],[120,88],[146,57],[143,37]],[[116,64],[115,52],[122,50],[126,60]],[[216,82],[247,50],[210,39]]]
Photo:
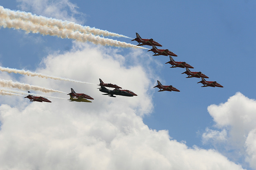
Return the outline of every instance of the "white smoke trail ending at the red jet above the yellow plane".
[[[40,86],[34,86],[30,84],[20,83],[20,82],[13,82],[12,80],[3,80],[0,79],[0,86],[2,87],[12,87],[18,88],[21,90],[38,90],[41,92],[49,93],[49,92],[58,92],[58,93],[66,93],[59,90],[48,89]]]

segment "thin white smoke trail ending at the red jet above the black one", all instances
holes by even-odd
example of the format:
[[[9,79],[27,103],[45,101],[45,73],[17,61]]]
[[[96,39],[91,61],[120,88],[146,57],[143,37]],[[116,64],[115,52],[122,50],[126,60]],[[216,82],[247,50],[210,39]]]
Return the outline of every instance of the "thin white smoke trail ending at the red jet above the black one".
[[[64,81],[69,81],[69,82],[76,82],[76,83],[84,83],[84,84],[94,84],[94,83],[88,83],[88,82],[83,82],[83,81],[79,81],[79,80],[72,80],[72,79],[69,79],[69,78],[63,78],[63,77],[57,77],[57,76],[50,76],[50,75],[47,75],[47,74],[41,74],[41,73],[37,73],[37,72],[31,72],[29,70],[17,70],[15,68],[6,68],[6,67],[1,67],[0,66],[0,71],[5,71],[5,72],[8,72],[8,73],[16,73],[16,74],[23,74],[23,75],[27,75],[27,76],[38,76],[38,77],[41,77],[41,78],[51,78],[51,79],[54,79],[54,80],[64,80]],[[96,84],[94,84],[96,85]]]

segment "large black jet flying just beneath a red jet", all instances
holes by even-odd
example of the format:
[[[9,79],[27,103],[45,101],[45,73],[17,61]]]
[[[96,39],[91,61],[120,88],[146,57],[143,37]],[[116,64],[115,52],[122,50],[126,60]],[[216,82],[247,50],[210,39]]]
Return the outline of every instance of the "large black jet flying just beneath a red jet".
[[[137,94],[135,94],[134,92],[132,92],[130,90],[120,90],[118,88],[115,88],[114,90],[109,90],[104,86],[100,86],[99,90],[100,90],[100,92],[106,93],[106,94],[102,94],[102,95],[108,95],[113,98],[116,97],[114,95],[128,96],[128,97],[138,96]]]

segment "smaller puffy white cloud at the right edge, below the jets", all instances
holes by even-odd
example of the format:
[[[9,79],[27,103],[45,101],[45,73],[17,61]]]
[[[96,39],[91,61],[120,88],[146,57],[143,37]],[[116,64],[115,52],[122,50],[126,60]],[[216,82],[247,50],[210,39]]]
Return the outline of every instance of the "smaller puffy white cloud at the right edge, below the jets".
[[[246,155],[251,168],[256,169],[256,100],[237,92],[226,103],[209,106],[208,112],[216,129],[207,128],[203,142],[224,148],[232,159]]]

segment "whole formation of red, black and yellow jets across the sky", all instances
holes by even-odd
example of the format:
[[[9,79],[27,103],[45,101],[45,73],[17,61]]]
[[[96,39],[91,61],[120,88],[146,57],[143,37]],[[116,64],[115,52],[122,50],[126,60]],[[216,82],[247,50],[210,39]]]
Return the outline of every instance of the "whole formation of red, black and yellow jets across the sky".
[[[150,46],[152,46],[152,49],[150,49],[148,51],[154,52],[153,56],[159,56],[159,55],[169,56],[170,61],[168,61],[167,63],[172,65],[170,68],[176,68],[176,67],[186,68],[186,71],[181,73],[181,74],[187,74],[188,77],[186,77],[186,78],[192,78],[192,77],[201,78],[202,80],[198,83],[202,83],[203,84],[202,87],[208,87],[208,86],[210,86],[210,87],[223,87],[222,85],[220,85],[216,81],[206,81],[205,78],[209,78],[209,77],[206,76],[205,74],[202,74],[202,72],[192,72],[192,71],[190,71],[189,68],[194,68],[190,64],[188,64],[186,62],[181,62],[181,61],[174,61],[172,56],[178,57],[178,55],[174,54],[172,51],[170,51],[168,49],[157,49],[156,46],[162,47],[162,45],[159,44],[158,42],[154,41],[154,39],[142,39],[140,37],[140,35],[138,33],[136,33],[136,38],[133,39],[132,41],[137,41],[139,43],[138,46],[141,46],[141,45],[150,45]],[[167,64],[167,63],[165,63],[165,64]],[[98,86],[100,86],[100,88],[98,88],[100,90],[100,92],[104,93],[102,95],[108,95],[108,96],[114,97],[114,98],[116,97],[114,95],[128,96],[128,97],[138,96],[137,94],[135,94],[131,90],[122,89],[120,86],[118,86],[116,84],[104,83],[101,79],[100,79],[100,84]],[[114,90],[107,89],[106,87],[114,88]],[[163,86],[160,83],[160,81],[158,81],[158,80],[157,80],[157,85],[154,86],[154,88],[156,88],[156,87],[160,89],[160,90],[158,90],[158,92],[163,92],[163,91],[180,92],[180,90],[173,87],[172,85]],[[28,91],[28,93],[30,93],[30,92]],[[94,98],[92,98],[88,94],[76,93],[73,88],[71,88],[71,93],[69,93],[67,95],[70,96],[70,99],[69,99],[70,102],[91,102],[90,100],[94,100]],[[30,99],[31,102],[51,102],[50,100],[48,100],[48,99],[46,99],[42,96],[32,96],[30,94],[28,96],[26,96],[25,98]]]

